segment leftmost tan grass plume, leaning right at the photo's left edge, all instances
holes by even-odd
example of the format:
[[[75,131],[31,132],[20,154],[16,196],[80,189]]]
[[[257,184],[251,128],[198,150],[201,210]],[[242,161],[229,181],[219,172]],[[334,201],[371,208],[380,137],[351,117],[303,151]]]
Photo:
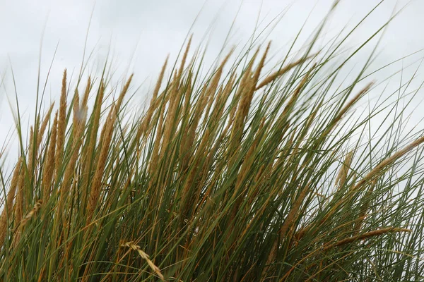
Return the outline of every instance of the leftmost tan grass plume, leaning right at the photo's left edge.
[[[3,205],[3,211],[0,216],[0,246],[3,245],[4,239],[8,232],[8,221],[13,214],[13,200],[15,200],[16,188],[18,187],[19,173],[21,172],[22,157],[19,158],[18,163],[13,170],[11,185],[7,193],[6,201]]]

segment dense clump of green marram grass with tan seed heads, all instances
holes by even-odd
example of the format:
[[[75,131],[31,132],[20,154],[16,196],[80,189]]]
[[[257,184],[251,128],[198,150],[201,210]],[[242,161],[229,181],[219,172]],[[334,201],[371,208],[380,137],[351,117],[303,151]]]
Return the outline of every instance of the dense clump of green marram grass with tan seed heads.
[[[17,113],[0,280],[421,281],[423,134],[390,114],[367,130],[399,99],[353,115],[368,64],[342,87],[340,45],[315,39],[271,71],[268,44],[206,75],[189,41],[141,116],[132,75],[69,88],[65,70],[28,140]]]

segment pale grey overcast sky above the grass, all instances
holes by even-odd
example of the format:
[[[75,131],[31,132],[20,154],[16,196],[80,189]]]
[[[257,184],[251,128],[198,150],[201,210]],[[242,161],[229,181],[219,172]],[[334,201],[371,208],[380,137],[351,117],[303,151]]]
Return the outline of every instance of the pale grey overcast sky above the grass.
[[[389,25],[381,43],[377,63],[384,65],[423,49],[423,0],[384,1],[349,39],[346,47],[358,46],[384,24],[394,11],[399,11],[408,2],[410,3],[404,11]],[[114,67],[117,69],[116,81],[122,79],[128,68],[128,71],[135,73],[135,85],[144,85],[148,89],[154,83],[165,56],[170,54],[171,59],[175,59],[198,15],[192,28],[194,45],[201,42],[211,27],[207,60],[212,62],[233,20],[235,26],[230,43],[245,43],[252,35],[258,16],[260,30],[283,13],[268,37],[273,40],[273,54],[282,58],[285,56],[285,48],[292,42],[300,27],[306,23],[300,39],[302,42],[317,27],[333,3],[333,0],[0,0],[0,74],[3,81],[0,89],[0,144],[3,144],[6,134],[13,128],[11,106],[6,98],[13,97],[14,94],[12,69],[16,78],[20,110],[27,117],[25,121],[33,118],[42,38],[43,82],[57,47],[47,84],[49,101],[59,97],[63,69],[79,71],[89,23],[86,49],[88,52],[94,50],[89,71],[97,71],[110,49],[110,57],[114,59]],[[345,25],[353,27],[378,3],[377,0],[341,0],[327,25],[327,37],[330,38]],[[366,50],[371,49],[372,45]],[[423,52],[419,52],[400,61],[382,71],[380,77],[384,79],[396,69],[422,57]],[[358,61],[361,59],[365,59],[365,56],[359,55]],[[413,70],[414,68],[410,68],[405,73],[411,74]],[[418,87],[421,80],[422,75],[421,79],[414,82],[414,86]],[[143,95],[145,93],[141,91],[138,97],[142,99]],[[422,117],[421,111],[411,122],[417,122]]]

